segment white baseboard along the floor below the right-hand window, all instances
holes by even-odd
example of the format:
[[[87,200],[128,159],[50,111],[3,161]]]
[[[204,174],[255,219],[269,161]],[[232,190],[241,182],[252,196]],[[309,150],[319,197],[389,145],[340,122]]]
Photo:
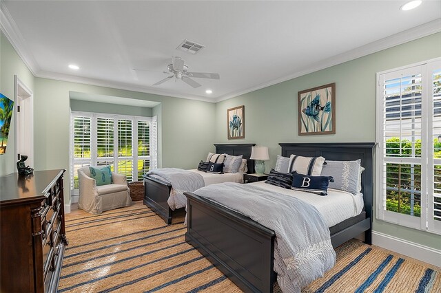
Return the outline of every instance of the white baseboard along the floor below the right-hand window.
[[[372,231],[372,244],[431,265],[440,266],[441,263],[441,250],[380,232]]]

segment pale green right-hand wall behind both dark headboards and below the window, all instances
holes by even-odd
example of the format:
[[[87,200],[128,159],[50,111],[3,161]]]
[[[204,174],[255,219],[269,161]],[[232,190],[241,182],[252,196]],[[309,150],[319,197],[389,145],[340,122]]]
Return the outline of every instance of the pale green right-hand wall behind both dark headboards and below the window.
[[[279,142],[375,142],[376,73],[441,56],[441,33],[398,45],[284,83],[218,102],[216,142],[227,142],[227,109],[245,105],[245,139],[269,147],[274,168]],[[298,135],[297,93],[336,83],[336,134]],[[230,140],[231,142],[232,140]],[[373,220],[373,230],[441,249],[441,237],[420,230]]]

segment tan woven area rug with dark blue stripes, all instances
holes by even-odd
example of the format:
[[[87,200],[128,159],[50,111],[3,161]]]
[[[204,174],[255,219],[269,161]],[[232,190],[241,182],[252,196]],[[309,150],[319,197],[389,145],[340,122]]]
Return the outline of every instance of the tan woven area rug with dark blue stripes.
[[[141,202],[102,215],[68,214],[66,231],[58,292],[241,292],[185,243],[183,217],[167,226]],[[441,269],[358,241],[336,251],[336,266],[302,292],[441,292]]]

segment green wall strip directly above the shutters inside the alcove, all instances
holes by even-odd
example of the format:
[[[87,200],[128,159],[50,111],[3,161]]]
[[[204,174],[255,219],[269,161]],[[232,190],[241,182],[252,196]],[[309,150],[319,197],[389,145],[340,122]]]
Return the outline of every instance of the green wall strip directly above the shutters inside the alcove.
[[[92,113],[109,113],[130,116],[152,117],[152,108],[135,107],[126,105],[109,104],[107,102],[90,102],[86,100],[70,99],[72,111],[83,111]]]

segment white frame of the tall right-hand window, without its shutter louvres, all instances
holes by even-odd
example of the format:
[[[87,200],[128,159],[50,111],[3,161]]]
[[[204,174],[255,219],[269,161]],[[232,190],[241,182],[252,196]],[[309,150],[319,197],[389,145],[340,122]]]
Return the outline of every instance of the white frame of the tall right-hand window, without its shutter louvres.
[[[431,117],[431,107],[429,106],[433,105],[433,95],[431,94],[431,91],[433,91],[432,72],[435,68],[439,67],[438,63],[440,62],[441,58],[434,58],[429,61],[389,69],[376,74],[376,143],[378,148],[376,152],[376,218],[392,224],[424,230],[435,234],[441,234],[441,223],[438,223],[438,221],[435,221],[433,218],[429,219],[431,211],[433,212],[433,189],[431,192],[429,186],[433,184],[434,181],[433,164],[435,162],[433,158],[433,146],[430,147],[433,137],[433,119],[429,119],[429,117]],[[398,78],[398,75],[409,76],[413,74],[421,74],[421,157],[386,157],[383,123],[385,115],[384,80]],[[386,210],[386,195],[384,194],[386,180],[384,180],[384,173],[386,172],[385,166],[389,162],[421,165],[420,217]],[[432,166],[432,168],[430,168],[430,166]]]

